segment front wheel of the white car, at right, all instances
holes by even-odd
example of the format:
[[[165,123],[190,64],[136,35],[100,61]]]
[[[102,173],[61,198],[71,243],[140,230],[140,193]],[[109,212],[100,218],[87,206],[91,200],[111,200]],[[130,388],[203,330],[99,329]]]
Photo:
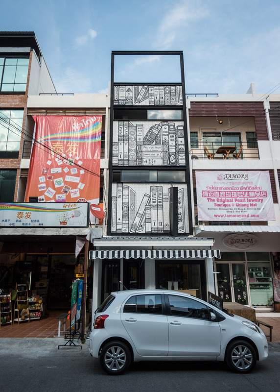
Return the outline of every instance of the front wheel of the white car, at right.
[[[249,373],[257,363],[255,348],[243,340],[230,343],[226,351],[226,363],[236,373]]]

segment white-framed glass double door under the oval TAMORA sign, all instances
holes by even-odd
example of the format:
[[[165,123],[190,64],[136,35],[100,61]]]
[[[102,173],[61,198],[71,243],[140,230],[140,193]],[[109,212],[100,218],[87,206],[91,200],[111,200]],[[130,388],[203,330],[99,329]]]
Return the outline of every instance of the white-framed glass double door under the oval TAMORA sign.
[[[218,295],[227,302],[248,305],[245,263],[216,263]]]

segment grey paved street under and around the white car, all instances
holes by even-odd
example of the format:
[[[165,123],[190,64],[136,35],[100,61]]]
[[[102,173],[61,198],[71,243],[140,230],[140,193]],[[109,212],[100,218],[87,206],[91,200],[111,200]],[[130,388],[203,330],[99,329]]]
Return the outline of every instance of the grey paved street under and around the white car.
[[[60,348],[63,339],[0,339],[1,392],[66,391],[263,391],[280,385],[280,343],[269,343],[269,359],[239,375],[222,363],[142,362],[122,376],[108,376],[83,349]]]

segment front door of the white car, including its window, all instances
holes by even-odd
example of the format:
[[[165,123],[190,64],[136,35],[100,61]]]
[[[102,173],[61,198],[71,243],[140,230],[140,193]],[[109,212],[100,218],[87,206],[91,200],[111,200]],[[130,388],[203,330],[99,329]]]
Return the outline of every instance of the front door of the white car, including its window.
[[[166,294],[169,339],[168,356],[217,357],[221,348],[221,329],[210,320],[210,308],[190,297]]]

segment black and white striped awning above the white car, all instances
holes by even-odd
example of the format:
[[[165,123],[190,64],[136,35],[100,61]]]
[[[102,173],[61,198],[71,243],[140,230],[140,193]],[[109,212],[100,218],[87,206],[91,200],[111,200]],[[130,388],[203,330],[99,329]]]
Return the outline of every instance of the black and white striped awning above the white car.
[[[90,260],[93,259],[204,259],[205,257],[221,258],[219,250],[91,250]]]

